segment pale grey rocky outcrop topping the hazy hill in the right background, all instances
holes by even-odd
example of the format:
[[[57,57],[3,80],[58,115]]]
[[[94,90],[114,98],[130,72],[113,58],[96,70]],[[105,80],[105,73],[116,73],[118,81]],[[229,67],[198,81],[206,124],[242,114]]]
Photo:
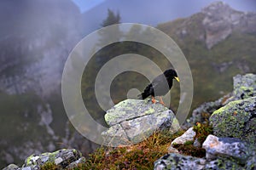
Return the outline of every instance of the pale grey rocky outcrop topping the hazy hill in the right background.
[[[253,33],[256,31],[256,14],[236,11],[222,2],[212,3],[202,9],[207,48],[230,36],[232,31]]]

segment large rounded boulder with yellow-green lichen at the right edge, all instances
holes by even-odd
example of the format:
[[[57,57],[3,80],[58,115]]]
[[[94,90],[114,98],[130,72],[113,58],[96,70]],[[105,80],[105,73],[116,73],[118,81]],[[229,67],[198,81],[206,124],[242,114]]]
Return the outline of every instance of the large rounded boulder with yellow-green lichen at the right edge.
[[[213,133],[256,144],[256,97],[240,99],[214,111],[210,117]]]

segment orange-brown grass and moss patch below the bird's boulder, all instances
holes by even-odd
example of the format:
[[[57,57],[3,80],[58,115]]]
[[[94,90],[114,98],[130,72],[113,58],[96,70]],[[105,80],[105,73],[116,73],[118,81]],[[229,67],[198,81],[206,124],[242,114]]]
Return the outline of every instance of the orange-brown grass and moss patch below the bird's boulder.
[[[100,148],[87,158],[83,169],[153,169],[154,161],[167,153],[170,141],[183,134],[168,130],[153,133],[139,144],[118,148]]]

